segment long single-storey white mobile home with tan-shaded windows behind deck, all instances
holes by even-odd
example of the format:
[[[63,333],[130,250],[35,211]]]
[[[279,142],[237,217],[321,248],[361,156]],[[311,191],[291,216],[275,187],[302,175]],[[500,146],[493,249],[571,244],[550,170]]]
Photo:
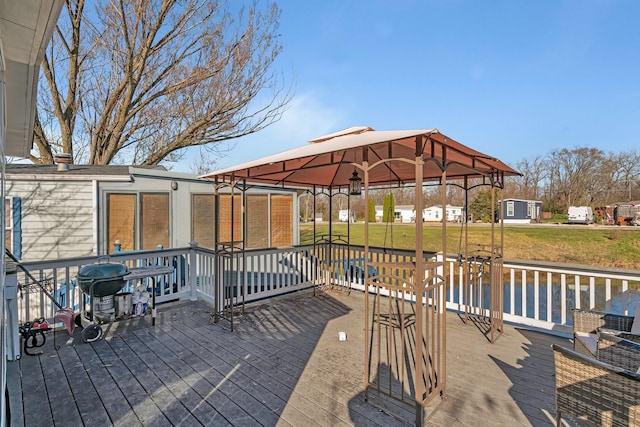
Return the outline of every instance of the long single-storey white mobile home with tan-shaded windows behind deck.
[[[227,193],[225,194],[224,191]],[[220,195],[220,239],[232,240],[231,195]],[[234,196],[234,238],[247,247],[298,243],[295,190],[255,187]],[[214,248],[214,188],[194,174],[131,166],[6,167],[7,247],[22,261],[122,250]],[[241,203],[247,205],[243,235]],[[224,220],[224,217],[227,217]],[[265,226],[266,224],[266,226]],[[225,240],[226,239],[226,240]]]

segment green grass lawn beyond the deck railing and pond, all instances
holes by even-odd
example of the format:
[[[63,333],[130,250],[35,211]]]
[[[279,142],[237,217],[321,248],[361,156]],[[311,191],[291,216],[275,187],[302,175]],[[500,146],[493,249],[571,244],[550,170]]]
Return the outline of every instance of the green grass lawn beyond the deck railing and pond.
[[[376,223],[369,226],[371,246],[414,249],[415,224]],[[456,254],[463,250],[461,226],[447,226],[447,252]],[[464,244],[464,231],[462,231]],[[469,243],[489,243],[491,227],[487,224],[472,224],[468,228]],[[316,225],[316,238],[329,234],[327,223]],[[333,224],[334,236],[347,238],[347,224]],[[500,239],[500,228],[496,226],[496,240]],[[300,224],[300,243],[309,244],[314,240],[313,223]],[[355,245],[364,244],[364,224],[350,226],[350,241]],[[442,250],[442,229],[440,224],[425,224],[424,249]],[[640,269],[640,228],[616,226],[583,225],[532,225],[505,226],[504,257],[508,260],[550,261],[570,264],[593,265]]]

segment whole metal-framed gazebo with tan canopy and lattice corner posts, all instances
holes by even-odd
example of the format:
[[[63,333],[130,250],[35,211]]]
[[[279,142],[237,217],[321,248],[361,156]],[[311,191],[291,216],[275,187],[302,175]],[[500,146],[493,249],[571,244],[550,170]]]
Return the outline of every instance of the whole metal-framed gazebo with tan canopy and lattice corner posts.
[[[389,186],[415,189],[416,241],[412,259],[369,254],[369,221],[365,215],[364,373],[367,400],[377,404],[386,397],[415,406],[416,425],[435,410],[446,396],[446,309],[444,284],[447,255],[446,221],[442,221],[442,254],[433,257],[423,249],[423,185],[441,186],[442,206],[447,205],[447,185],[457,185],[465,193],[478,185],[489,186],[492,205],[495,189],[503,188],[506,176],[518,172],[500,160],[469,148],[437,129],[376,131],[352,127],[309,141],[309,144],[280,154],[212,172],[217,188],[232,192],[248,185],[269,184],[318,190],[347,189],[349,194]],[[242,204],[241,199],[237,203]],[[216,203],[216,222],[219,211]],[[502,211],[501,209],[499,210]],[[467,214],[465,213],[465,216]],[[232,221],[231,227],[234,227]],[[464,221],[466,224],[466,221]],[[216,230],[218,227],[216,227]],[[491,239],[471,247],[466,242],[460,257],[468,294],[473,292],[474,269],[478,262],[489,266],[490,304],[480,314],[487,320],[491,342],[502,333],[502,233],[496,237],[495,221]],[[220,251],[243,250],[241,241],[217,243]],[[466,236],[466,233],[465,233]],[[347,255],[348,256],[348,255]],[[328,264],[325,265],[329,268]],[[325,276],[332,280],[331,275]],[[466,303],[466,300],[465,300]],[[216,310],[223,310],[219,306]],[[467,310],[467,316],[473,310]],[[438,402],[435,400],[440,398]]]

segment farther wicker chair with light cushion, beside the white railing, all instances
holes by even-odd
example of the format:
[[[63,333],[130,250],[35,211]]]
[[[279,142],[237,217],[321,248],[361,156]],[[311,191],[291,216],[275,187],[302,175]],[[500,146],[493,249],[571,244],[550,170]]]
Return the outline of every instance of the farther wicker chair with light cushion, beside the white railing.
[[[597,345],[589,345],[600,329],[606,329],[611,335],[640,342],[640,336],[631,334],[633,316],[604,313],[593,310],[573,309],[573,349],[586,356],[597,357]]]

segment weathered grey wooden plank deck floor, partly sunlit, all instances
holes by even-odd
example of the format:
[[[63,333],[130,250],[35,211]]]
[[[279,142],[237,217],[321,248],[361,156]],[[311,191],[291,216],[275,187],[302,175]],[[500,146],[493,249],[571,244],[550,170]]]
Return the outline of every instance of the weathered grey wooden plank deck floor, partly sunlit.
[[[364,401],[364,296],[300,292],[247,306],[235,330],[211,307],[180,302],[146,318],[49,336],[40,356],[9,362],[12,426],[407,426]],[[447,316],[447,399],[428,426],[551,425],[551,343],[505,326],[490,344]],[[347,340],[338,339],[346,332]],[[404,419],[404,420],[403,420]]]

